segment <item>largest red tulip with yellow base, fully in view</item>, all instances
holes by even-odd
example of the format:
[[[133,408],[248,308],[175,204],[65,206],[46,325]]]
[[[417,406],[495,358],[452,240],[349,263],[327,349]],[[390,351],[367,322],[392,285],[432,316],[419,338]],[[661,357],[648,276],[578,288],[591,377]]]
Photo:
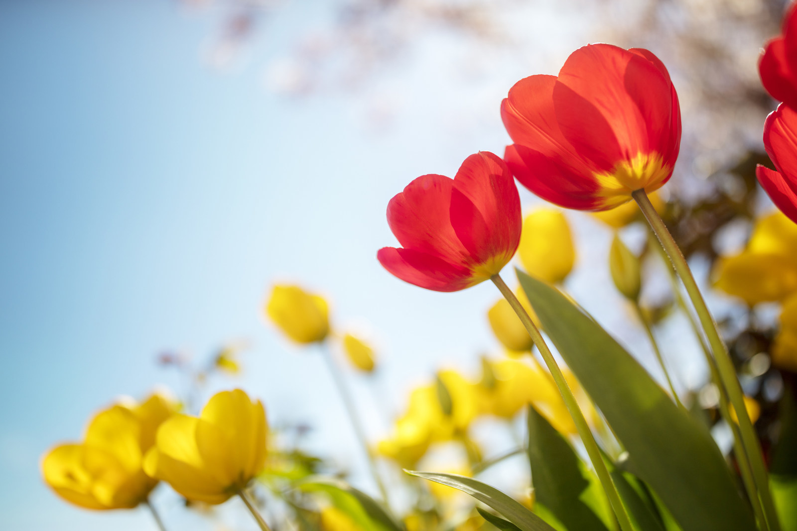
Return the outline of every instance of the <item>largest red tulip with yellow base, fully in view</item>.
[[[504,158],[517,180],[569,209],[612,209],[634,190],[660,188],[681,143],[675,88],[645,49],[577,49],[558,77],[518,81],[501,118],[514,142]]]

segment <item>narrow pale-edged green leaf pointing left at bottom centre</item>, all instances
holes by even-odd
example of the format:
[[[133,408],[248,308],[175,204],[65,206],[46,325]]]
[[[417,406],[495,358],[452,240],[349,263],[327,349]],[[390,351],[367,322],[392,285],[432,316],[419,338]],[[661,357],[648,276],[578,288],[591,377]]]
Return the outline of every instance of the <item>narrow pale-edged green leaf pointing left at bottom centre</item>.
[[[441,485],[452,486],[476,498],[479,502],[490,506],[497,513],[501,514],[512,524],[520,528],[520,531],[556,531],[545,521],[532,511],[520,505],[515,499],[507,496],[501,490],[493,486],[486,485],[477,479],[467,478],[459,474],[442,474],[437,472],[415,472],[404,470],[407,474],[418,478],[428,479]]]

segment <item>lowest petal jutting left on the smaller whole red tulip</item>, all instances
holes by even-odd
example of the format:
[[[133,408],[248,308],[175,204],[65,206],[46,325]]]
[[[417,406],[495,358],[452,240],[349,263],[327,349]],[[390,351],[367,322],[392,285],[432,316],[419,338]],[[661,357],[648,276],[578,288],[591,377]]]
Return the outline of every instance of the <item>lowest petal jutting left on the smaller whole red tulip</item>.
[[[414,249],[385,247],[376,253],[379,263],[393,275],[414,286],[434,291],[459,291],[473,285],[467,267]]]

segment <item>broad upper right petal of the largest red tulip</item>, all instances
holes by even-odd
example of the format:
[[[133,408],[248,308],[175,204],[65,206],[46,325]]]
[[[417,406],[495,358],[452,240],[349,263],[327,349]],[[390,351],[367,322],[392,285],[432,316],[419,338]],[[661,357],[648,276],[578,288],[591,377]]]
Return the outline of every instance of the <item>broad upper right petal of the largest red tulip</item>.
[[[553,100],[564,137],[603,170],[673,150],[672,84],[638,53],[613,45],[576,50],[559,72]]]

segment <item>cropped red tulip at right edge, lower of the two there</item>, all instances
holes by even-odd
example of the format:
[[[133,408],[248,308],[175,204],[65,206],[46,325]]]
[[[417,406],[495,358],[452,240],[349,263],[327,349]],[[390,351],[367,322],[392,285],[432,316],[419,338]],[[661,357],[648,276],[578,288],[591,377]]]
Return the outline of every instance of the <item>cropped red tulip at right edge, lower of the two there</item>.
[[[767,116],[764,147],[777,171],[758,166],[758,182],[775,206],[797,223],[797,111],[781,103]]]

